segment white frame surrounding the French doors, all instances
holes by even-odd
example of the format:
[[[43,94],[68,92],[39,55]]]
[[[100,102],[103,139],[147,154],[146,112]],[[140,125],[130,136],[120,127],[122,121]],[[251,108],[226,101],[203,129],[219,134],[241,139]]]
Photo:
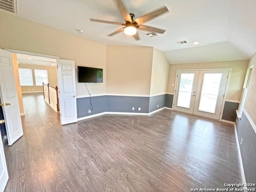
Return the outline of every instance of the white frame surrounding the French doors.
[[[221,107],[221,110],[220,110],[220,119],[219,121],[222,120],[222,115],[223,115],[223,110],[224,110],[224,104],[225,104],[225,101],[226,101],[226,95],[227,95],[227,92],[228,92],[228,85],[229,85],[229,81],[230,81],[230,75],[231,75],[231,71],[232,71],[232,68],[210,68],[210,69],[177,69],[176,70],[176,77],[175,77],[175,86],[174,86],[174,95],[173,95],[173,100],[172,100],[172,108],[174,106],[174,99],[175,99],[175,95],[176,95],[176,90],[177,90],[177,76],[178,76],[178,71],[196,71],[196,70],[229,70],[228,72],[228,80],[227,80],[227,84],[226,84],[226,87],[225,87],[225,93],[224,93],[224,99],[223,99],[223,102],[222,102],[222,107]],[[192,114],[194,115],[194,114]],[[207,118],[207,117],[205,117]]]

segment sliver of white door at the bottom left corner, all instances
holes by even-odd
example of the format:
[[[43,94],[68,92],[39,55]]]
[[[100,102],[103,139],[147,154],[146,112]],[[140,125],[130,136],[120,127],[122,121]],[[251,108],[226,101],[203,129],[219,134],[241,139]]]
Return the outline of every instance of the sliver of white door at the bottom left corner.
[[[1,136],[1,133],[0,133]],[[4,147],[2,141],[0,142],[0,192],[4,191],[4,188],[8,181],[8,172],[6,167],[6,160],[4,156]]]

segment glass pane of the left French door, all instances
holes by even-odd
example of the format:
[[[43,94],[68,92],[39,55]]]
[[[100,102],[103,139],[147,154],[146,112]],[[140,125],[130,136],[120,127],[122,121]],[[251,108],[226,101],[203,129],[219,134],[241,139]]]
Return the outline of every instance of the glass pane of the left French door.
[[[182,73],[180,75],[180,88],[178,93],[177,106],[190,108],[191,92],[195,74]]]

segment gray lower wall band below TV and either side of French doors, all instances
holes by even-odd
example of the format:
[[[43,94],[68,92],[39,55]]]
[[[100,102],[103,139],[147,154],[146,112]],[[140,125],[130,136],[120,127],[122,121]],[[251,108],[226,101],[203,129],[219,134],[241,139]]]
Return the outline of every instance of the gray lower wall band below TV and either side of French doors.
[[[83,118],[103,112],[151,113],[163,107],[172,108],[173,96],[173,94],[162,94],[151,97],[92,96],[93,110],[90,104],[90,97],[77,98],[77,117]],[[238,106],[239,103],[237,102],[226,101],[222,119],[235,122]],[[132,110],[133,107],[134,110]],[[89,109],[92,110],[91,113],[88,113]]]

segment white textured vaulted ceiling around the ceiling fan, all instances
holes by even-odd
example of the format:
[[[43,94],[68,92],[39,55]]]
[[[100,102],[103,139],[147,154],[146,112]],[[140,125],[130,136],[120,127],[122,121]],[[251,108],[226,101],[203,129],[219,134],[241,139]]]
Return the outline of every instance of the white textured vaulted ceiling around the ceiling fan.
[[[249,59],[256,52],[255,0],[123,0],[138,18],[162,5],[170,13],[145,25],[166,29],[134,41],[124,33],[106,36],[120,26],[90,22],[90,17],[123,22],[112,0],[18,0],[18,16],[104,44],[153,46],[171,64]],[[77,32],[84,30],[83,34]],[[187,40],[187,44],[176,42]],[[194,45],[194,42],[200,42]]]

